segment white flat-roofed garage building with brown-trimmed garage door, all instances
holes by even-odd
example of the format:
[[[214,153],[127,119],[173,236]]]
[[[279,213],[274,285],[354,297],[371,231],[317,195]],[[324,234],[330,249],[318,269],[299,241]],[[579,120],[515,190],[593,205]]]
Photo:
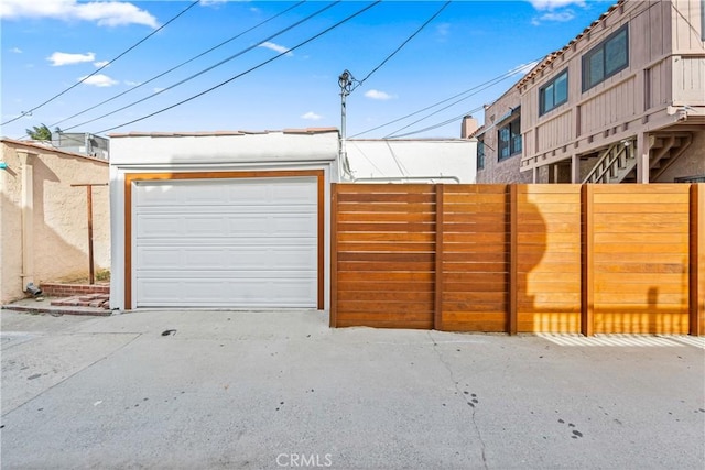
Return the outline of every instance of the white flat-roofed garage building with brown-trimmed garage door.
[[[111,306],[329,305],[336,129],[111,135]]]

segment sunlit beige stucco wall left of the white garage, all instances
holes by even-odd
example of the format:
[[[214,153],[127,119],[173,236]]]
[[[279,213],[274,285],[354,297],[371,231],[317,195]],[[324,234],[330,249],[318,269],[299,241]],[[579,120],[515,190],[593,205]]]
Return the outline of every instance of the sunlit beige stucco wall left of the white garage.
[[[30,152],[33,168],[33,271],[23,273],[22,166],[18,153]],[[107,184],[108,162],[46,149],[39,144],[2,141],[0,170],[0,303],[24,296],[22,276],[34,284],[88,276],[88,214],[85,187]],[[94,259],[96,271],[110,267],[110,218],[107,186],[93,189]]]

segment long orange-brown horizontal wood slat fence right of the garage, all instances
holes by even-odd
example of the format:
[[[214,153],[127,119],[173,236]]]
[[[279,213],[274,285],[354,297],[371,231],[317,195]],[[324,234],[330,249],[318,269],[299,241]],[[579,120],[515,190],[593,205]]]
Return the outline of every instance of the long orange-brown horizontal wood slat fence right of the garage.
[[[332,327],[705,335],[705,184],[332,197]]]

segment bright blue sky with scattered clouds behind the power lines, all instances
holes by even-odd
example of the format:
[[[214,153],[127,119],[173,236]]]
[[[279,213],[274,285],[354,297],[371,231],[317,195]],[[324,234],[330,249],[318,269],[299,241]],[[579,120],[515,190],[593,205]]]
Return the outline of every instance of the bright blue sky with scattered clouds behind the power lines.
[[[445,4],[383,1],[312,40],[372,2],[313,15],[332,2],[202,0],[167,24],[191,3],[2,0],[0,134],[42,123],[102,134],[339,128],[340,73],[362,80]],[[348,96],[347,135],[457,138],[462,116],[481,122],[482,105],[520,78],[512,70],[561,48],[611,3],[453,1]]]

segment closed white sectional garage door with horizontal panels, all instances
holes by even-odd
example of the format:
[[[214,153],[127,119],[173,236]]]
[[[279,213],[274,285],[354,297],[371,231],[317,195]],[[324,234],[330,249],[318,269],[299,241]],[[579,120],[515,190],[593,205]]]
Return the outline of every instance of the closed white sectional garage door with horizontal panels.
[[[316,307],[315,177],[150,181],[133,194],[138,307]]]

